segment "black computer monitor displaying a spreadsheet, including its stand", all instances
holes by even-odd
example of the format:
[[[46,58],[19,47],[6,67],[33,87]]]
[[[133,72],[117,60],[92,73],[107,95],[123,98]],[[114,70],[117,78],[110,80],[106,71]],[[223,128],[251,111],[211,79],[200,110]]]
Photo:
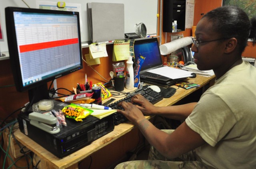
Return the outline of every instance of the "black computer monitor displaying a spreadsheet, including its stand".
[[[49,98],[47,82],[82,69],[79,12],[5,8],[16,90],[29,100]]]

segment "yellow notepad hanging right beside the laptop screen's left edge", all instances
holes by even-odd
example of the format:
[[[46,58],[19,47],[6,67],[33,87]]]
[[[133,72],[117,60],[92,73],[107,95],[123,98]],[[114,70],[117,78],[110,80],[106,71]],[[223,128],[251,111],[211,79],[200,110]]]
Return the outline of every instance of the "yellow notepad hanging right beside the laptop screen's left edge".
[[[116,39],[113,48],[113,61],[127,60],[130,56],[130,39]]]

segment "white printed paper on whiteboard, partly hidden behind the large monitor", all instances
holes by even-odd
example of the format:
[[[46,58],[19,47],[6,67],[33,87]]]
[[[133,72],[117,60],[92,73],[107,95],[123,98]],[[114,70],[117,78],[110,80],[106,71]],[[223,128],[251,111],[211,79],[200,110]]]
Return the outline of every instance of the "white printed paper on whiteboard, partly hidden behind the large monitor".
[[[80,20],[80,32],[82,33],[83,30],[83,23],[82,23],[82,9],[81,4],[74,4],[65,2],[66,6],[64,8],[58,8],[57,2],[52,1],[44,1],[44,0],[37,0],[36,1],[36,7],[38,9],[48,9],[48,10],[65,10],[65,11],[72,11],[72,12],[79,12],[79,20]]]

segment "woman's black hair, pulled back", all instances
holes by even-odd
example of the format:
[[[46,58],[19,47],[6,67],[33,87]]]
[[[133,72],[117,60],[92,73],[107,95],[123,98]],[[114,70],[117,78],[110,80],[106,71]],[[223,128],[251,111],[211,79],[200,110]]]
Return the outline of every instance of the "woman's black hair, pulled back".
[[[239,44],[239,51],[242,53],[247,46],[248,38],[256,43],[256,20],[252,18],[252,23],[248,15],[239,7],[222,6],[216,8],[203,16],[212,23],[213,30],[223,38],[235,37]]]

